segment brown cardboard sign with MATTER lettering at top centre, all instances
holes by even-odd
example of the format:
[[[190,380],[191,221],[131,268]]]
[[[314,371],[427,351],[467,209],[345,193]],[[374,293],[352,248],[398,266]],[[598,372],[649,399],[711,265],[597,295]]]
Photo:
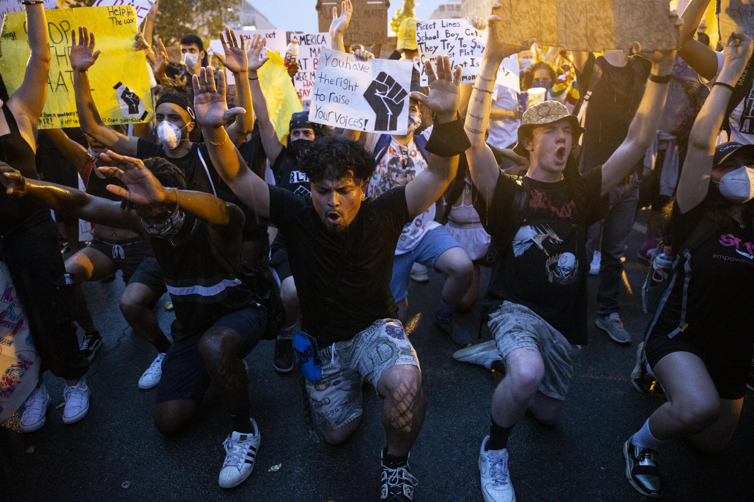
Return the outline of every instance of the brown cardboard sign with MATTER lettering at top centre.
[[[343,43],[348,48],[351,44],[385,44],[388,41],[388,5],[383,0],[351,0],[354,12],[351,23],[343,34]],[[329,32],[333,22],[333,7],[340,14],[340,0],[319,0],[320,32]]]

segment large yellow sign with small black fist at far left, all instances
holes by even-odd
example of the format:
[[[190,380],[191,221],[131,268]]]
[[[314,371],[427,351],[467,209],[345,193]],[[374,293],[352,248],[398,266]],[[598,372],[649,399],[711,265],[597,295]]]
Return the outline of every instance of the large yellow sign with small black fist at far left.
[[[152,120],[152,93],[146,56],[134,52],[136,11],[131,6],[82,7],[45,11],[50,34],[48,96],[39,129],[78,126],[73,87],[71,30],[86,26],[97,41],[100,58],[89,69],[91,93],[100,117],[108,125]],[[77,35],[78,36],[78,35]],[[2,73],[8,95],[23,83],[29,59],[26,14],[6,14],[2,29]]]

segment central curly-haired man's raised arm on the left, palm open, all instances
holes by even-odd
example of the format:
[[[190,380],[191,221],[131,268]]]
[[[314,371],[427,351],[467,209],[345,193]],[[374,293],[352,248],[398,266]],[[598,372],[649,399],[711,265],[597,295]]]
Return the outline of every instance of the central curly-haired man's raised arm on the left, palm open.
[[[217,78],[218,87],[215,88],[212,67],[207,66],[200,68],[199,74],[194,75],[192,81],[196,120],[201,126],[215,169],[244,204],[262,218],[268,218],[270,193],[267,184],[249,169],[238,149],[228,141],[228,134],[222,127],[236,114],[243,113],[243,108],[228,110],[228,104],[225,102],[225,75],[220,72]]]

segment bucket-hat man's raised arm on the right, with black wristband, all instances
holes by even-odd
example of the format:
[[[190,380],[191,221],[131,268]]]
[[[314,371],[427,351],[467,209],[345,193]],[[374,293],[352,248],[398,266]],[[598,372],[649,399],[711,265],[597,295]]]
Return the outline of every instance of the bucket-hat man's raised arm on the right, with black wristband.
[[[683,23],[676,11],[670,13],[670,17],[676,22],[676,27]],[[639,52],[641,45],[634,43],[634,50]],[[628,135],[621,146],[613,152],[610,158],[602,165],[602,195],[606,195],[612,187],[624,179],[636,163],[641,160],[647,148],[657,134],[660,126],[662,112],[665,106],[667,90],[670,87],[670,74],[673,72],[673,62],[676,60],[676,51],[642,53],[642,56],[652,62],[652,68],[647,80],[644,96],[639,103],[639,109],[633,116],[628,127]],[[660,82],[657,82],[659,80]]]

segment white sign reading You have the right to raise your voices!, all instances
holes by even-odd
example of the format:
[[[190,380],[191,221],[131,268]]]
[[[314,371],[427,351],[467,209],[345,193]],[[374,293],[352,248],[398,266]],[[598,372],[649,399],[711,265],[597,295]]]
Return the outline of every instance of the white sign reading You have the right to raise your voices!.
[[[327,126],[404,135],[409,128],[410,61],[369,59],[323,47],[309,120]]]

